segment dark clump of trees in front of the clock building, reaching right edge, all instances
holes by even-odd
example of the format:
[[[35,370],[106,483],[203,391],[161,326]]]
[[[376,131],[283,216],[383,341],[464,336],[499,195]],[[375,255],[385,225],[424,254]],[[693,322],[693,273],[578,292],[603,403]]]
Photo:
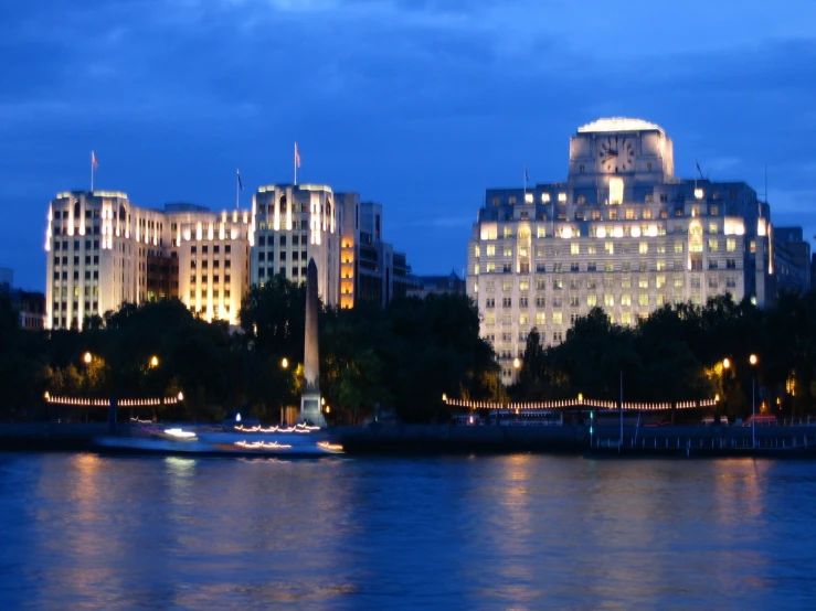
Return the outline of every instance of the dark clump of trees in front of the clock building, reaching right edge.
[[[730,296],[703,307],[666,306],[635,326],[612,324],[596,308],[558,346],[543,350],[539,333],[530,333],[511,392],[520,400],[579,393],[612,400],[623,386],[624,400],[719,396],[725,411],[744,415],[751,410],[754,379],[757,409],[764,404],[786,416],[813,409],[816,292],[783,294],[767,310],[748,299],[735,303]]]

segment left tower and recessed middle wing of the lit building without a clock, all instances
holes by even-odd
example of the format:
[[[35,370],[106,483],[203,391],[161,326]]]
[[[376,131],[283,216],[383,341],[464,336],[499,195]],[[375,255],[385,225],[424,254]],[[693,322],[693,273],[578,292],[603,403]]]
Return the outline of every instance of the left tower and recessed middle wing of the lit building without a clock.
[[[226,214],[188,204],[142,208],[120,192],[60,193],[45,231],[46,328],[82,329],[86,317],[123,303],[170,297],[206,320],[237,324],[250,217]],[[197,266],[214,274],[198,275]]]

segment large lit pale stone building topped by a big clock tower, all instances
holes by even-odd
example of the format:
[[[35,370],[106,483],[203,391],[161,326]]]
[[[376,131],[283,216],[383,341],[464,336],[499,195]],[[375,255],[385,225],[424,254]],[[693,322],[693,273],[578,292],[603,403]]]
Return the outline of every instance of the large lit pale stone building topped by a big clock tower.
[[[571,137],[565,182],[487,190],[467,293],[509,382],[532,328],[560,343],[596,306],[634,324],[727,292],[769,304],[772,235],[770,208],[748,184],[676,179],[660,127],[601,119]]]

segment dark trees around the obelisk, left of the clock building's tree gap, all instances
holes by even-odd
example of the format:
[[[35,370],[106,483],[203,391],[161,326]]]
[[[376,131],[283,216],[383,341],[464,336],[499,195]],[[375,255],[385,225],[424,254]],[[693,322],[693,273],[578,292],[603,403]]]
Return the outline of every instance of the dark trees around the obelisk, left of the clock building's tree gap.
[[[38,334],[19,329],[2,300],[0,412],[38,417],[46,392],[105,399],[181,392],[183,401],[157,416],[220,419],[241,410],[275,421],[282,407],[299,404],[305,309],[305,286],[278,276],[246,296],[239,332],[166,301],[126,304],[87,319],[83,331]],[[336,420],[359,422],[380,407],[428,421],[444,417],[443,393],[489,399],[502,390],[478,313],[464,296],[384,310],[322,308],[319,321],[321,389]]]

